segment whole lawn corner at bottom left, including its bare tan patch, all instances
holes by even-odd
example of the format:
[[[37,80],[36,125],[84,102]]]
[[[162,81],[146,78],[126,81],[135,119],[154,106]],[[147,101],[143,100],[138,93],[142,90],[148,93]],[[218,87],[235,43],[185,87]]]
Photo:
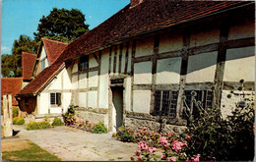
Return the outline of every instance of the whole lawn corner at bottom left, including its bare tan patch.
[[[15,146],[14,146],[15,144]],[[31,140],[1,141],[2,160],[6,161],[61,161]]]

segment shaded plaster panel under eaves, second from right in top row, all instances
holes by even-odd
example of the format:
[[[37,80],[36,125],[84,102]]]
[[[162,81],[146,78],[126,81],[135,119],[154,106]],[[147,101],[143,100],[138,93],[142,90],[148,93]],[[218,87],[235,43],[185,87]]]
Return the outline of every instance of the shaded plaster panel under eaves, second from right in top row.
[[[190,47],[217,43],[220,41],[220,29],[206,27],[194,29],[190,35]]]

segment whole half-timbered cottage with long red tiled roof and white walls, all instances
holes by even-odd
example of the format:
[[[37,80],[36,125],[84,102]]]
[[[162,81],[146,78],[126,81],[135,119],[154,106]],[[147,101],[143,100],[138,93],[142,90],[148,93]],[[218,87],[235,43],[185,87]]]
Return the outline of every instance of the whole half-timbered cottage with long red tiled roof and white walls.
[[[33,98],[36,107],[21,109],[45,116],[74,104],[78,116],[109,131],[121,125],[157,130],[163,117],[167,129],[182,126],[184,101],[197,116],[193,99],[221,107],[225,117],[241,84],[243,95],[254,96],[254,5],[131,0],[22,89],[21,101]],[[227,99],[231,91],[236,95]]]

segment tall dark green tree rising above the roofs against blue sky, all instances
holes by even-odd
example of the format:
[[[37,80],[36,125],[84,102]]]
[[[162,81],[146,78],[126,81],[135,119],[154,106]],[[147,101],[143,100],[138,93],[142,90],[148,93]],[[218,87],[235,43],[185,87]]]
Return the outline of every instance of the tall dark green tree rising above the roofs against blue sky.
[[[37,32],[33,32],[34,39],[47,37],[69,43],[89,30],[85,21],[85,15],[78,9],[53,8],[47,17],[40,19]]]

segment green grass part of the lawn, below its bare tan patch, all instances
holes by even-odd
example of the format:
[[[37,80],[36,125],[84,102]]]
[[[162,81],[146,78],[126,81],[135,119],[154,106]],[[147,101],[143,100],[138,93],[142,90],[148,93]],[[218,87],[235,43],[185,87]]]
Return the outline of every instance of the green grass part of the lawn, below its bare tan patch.
[[[43,150],[28,140],[30,147],[16,151],[3,151],[2,160],[6,161],[61,161],[57,156]]]

